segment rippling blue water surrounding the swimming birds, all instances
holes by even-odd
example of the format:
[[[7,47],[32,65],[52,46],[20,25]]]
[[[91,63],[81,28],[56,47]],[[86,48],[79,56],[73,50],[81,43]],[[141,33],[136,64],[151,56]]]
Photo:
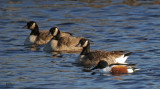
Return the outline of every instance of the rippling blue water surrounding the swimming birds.
[[[160,89],[159,0],[1,0],[0,89]],[[22,29],[57,26],[92,40],[92,50],[128,50],[140,71],[123,76],[91,75],[74,60],[23,45]]]

